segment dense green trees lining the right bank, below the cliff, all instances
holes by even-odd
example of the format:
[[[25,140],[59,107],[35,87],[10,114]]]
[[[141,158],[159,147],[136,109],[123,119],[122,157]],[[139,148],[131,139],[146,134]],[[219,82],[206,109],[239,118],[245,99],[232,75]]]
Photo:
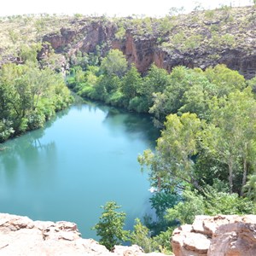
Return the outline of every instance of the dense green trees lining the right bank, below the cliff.
[[[255,79],[224,65],[170,74],[153,65],[142,77],[113,49],[99,66],[73,67],[67,84],[80,96],[149,112],[162,129],[154,152],[138,157],[157,189],[157,219],[146,216],[147,227],[137,220],[131,236],[143,232],[136,240],[146,250],[170,249],[173,226],[196,214],[255,212]]]

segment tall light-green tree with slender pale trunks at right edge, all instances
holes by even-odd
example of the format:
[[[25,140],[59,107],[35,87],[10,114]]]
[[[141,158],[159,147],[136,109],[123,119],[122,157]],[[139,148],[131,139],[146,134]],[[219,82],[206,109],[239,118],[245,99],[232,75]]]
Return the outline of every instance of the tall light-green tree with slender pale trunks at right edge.
[[[212,125],[207,125],[204,131],[202,148],[228,166],[230,193],[236,191],[242,195],[248,167],[255,170],[255,113],[256,102],[250,88],[212,99]]]

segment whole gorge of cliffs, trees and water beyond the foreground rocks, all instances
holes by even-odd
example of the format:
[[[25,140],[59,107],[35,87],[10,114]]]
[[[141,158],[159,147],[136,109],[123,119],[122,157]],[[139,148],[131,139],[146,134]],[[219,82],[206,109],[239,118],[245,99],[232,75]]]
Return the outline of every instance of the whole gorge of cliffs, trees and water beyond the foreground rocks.
[[[141,219],[133,243],[166,253],[195,215],[255,214],[255,20],[255,6],[2,17],[1,212],[73,221],[96,238],[99,207],[114,200],[126,229]],[[67,87],[98,102],[69,108]],[[143,219],[150,208],[156,218]]]

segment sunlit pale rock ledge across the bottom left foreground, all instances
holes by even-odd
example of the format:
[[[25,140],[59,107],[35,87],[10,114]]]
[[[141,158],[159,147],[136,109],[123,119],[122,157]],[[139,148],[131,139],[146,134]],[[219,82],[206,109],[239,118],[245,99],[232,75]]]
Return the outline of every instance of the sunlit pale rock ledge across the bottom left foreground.
[[[138,246],[115,247],[112,252],[92,239],[80,237],[76,224],[32,221],[0,213],[0,255],[146,255]],[[164,255],[148,253],[148,255]]]

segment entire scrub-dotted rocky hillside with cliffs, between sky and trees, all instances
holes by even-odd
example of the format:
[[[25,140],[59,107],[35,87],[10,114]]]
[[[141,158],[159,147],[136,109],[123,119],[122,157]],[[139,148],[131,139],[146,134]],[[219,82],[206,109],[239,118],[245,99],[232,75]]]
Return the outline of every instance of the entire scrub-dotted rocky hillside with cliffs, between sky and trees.
[[[255,6],[223,7],[162,19],[6,17],[0,26],[0,64],[15,61],[14,51],[22,44],[49,42],[67,61],[78,51],[104,56],[113,48],[122,50],[141,73],[152,63],[169,72],[177,65],[205,69],[224,63],[251,79],[256,74],[255,26]]]

